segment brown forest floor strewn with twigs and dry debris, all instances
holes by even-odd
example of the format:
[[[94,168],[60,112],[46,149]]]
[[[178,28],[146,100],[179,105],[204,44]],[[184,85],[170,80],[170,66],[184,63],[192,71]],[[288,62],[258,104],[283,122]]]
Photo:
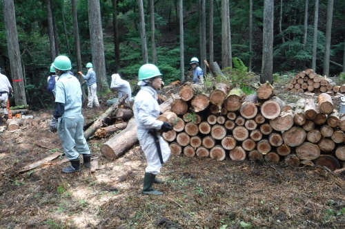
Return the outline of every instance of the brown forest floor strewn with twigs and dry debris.
[[[286,93],[289,80],[275,83],[280,98],[288,103],[306,96]],[[108,98],[100,98],[100,109],[83,109],[85,123],[106,110]],[[344,228],[345,174],[320,167],[172,155],[159,174],[164,183],[155,185],[164,195],[141,195],[146,159],[140,146],[108,160],[99,150],[108,138],[91,138],[101,167],[96,173],[84,167],[61,173],[66,162],[18,174],[63,153],[57,133],[49,131],[52,110],[31,114],[41,117],[38,127],[0,133],[1,229]]]

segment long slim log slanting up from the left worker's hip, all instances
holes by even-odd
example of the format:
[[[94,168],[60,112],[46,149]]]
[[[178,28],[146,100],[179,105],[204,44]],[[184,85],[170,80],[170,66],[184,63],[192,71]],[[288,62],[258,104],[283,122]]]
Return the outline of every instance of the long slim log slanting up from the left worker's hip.
[[[105,122],[105,120],[108,118],[108,116],[110,116],[110,114],[112,113],[112,111],[115,111],[115,109],[117,109],[117,107],[119,107],[119,105],[121,105],[122,103],[125,102],[126,98],[128,98],[128,94],[124,94],[121,98],[119,98],[119,100],[117,100],[117,102],[115,102],[111,107],[109,107],[104,113],[101,114],[101,116],[99,116],[99,118],[97,118],[97,120],[95,120],[95,122],[86,130],[84,131],[84,137],[86,140],[88,140],[91,135],[93,133],[95,133],[95,131],[97,131],[97,129],[103,127],[103,123]],[[168,102],[167,102],[168,103]],[[135,133],[135,132],[134,132]],[[136,135],[136,134],[135,134]],[[137,139],[135,140],[135,142],[137,142]],[[112,145],[111,145],[112,146]],[[107,148],[107,146],[104,146]],[[126,147],[125,147],[126,148]],[[111,150],[107,150],[107,152],[110,152],[111,154]],[[123,152],[121,152],[123,153]],[[120,153],[120,154],[121,154]],[[117,158],[117,155],[114,155],[114,158]]]

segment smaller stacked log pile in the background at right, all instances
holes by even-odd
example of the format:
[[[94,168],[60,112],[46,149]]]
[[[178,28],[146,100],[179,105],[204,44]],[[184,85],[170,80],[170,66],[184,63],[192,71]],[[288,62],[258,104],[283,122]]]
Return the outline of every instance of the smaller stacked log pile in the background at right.
[[[337,92],[345,93],[345,85],[337,86],[330,78],[316,74],[313,69],[306,69],[295,74],[295,78],[290,81],[286,91],[309,92],[317,95],[326,93],[334,96]]]

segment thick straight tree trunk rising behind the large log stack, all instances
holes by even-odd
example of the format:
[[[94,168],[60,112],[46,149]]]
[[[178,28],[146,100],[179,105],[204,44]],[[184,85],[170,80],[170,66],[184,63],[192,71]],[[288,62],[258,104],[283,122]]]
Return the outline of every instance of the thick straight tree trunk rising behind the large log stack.
[[[264,32],[262,38],[262,71],[260,82],[273,80],[273,18],[274,0],[264,0]]]

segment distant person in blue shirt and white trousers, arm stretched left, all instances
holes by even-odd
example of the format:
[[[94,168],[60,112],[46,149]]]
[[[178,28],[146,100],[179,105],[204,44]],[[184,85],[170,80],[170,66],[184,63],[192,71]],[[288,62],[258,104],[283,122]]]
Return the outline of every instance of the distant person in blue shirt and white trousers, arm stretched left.
[[[94,103],[96,107],[99,107],[96,84],[97,77],[92,68],[92,63],[87,63],[86,69],[88,69],[86,76],[84,76],[81,72],[78,72],[78,74],[83,76],[84,80],[86,80],[86,84],[88,85],[88,109],[92,109],[92,105]]]

